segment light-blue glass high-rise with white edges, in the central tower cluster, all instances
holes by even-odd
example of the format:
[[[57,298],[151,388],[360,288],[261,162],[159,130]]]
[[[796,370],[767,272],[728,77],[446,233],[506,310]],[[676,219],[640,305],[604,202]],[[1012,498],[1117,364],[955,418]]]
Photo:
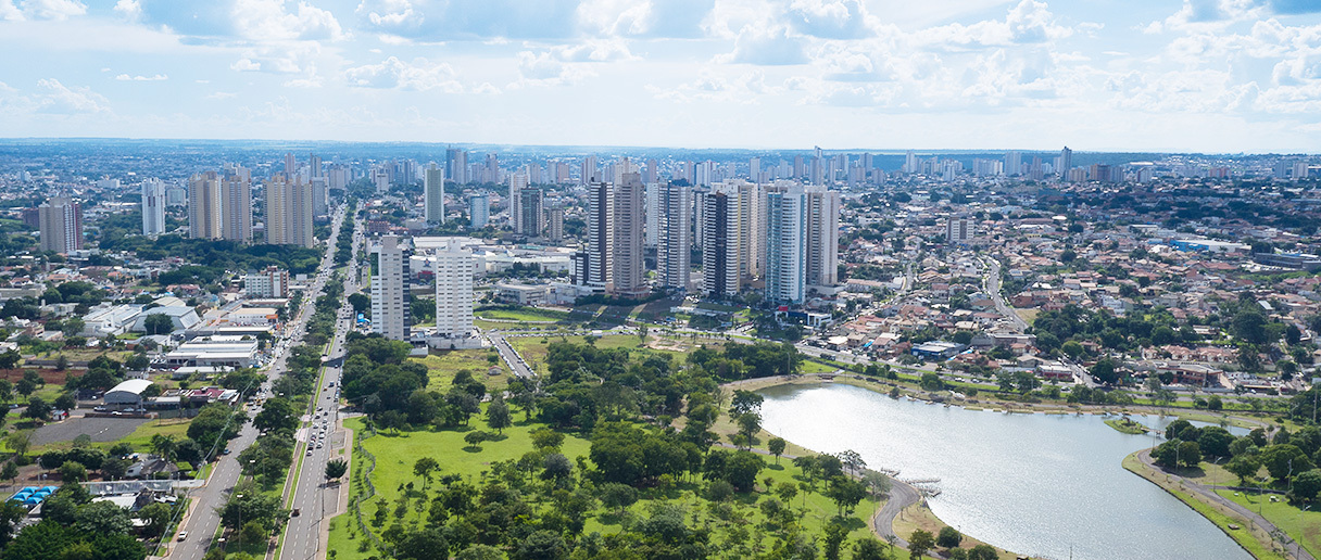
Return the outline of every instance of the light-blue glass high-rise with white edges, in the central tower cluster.
[[[766,194],[766,298],[801,304],[806,293],[807,222],[806,195],[801,186]]]

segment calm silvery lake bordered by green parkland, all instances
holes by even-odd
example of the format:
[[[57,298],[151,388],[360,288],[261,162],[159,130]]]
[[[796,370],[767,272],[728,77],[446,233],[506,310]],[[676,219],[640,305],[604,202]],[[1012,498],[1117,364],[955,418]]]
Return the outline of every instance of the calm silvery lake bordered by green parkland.
[[[1103,417],[946,408],[848,384],[758,392],[766,431],[816,452],[856,450],[902,479],[939,478],[931,511],[1000,548],[1057,560],[1251,560],[1124,470],[1125,456],[1159,440],[1119,433]]]

